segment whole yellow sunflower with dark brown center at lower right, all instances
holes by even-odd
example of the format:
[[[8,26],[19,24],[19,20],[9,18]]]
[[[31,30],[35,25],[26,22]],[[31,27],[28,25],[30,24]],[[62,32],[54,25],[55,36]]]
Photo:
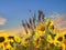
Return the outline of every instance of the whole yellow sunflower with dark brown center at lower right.
[[[54,39],[54,44],[61,47],[64,41],[64,33],[57,33]]]

